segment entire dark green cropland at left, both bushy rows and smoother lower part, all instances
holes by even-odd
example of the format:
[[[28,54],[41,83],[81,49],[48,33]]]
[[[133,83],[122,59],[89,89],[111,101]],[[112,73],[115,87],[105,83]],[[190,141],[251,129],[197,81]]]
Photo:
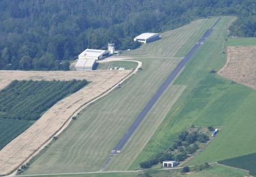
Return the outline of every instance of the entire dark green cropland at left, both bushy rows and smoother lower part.
[[[0,150],[25,131],[41,114],[66,95],[87,84],[83,81],[14,80],[0,91]]]

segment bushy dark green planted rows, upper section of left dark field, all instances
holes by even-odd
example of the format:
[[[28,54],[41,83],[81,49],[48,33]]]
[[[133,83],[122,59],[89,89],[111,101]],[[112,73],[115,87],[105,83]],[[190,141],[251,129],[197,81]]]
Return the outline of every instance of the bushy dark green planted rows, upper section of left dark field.
[[[14,80],[0,91],[0,118],[38,120],[57,101],[86,84],[87,80]]]

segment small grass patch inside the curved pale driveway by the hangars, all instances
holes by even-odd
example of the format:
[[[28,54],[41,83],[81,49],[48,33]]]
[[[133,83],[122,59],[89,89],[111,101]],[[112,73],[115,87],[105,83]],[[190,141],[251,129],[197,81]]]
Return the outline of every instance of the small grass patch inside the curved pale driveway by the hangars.
[[[134,61],[109,61],[106,63],[99,63],[97,69],[109,69],[110,67],[124,67],[125,69],[135,69],[137,65],[138,63]]]

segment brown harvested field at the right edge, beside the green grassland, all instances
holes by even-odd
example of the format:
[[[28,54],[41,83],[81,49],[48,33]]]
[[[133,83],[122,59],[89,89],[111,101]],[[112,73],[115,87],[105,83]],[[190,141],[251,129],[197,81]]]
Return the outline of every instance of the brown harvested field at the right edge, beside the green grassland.
[[[229,46],[221,76],[256,89],[256,46]]]

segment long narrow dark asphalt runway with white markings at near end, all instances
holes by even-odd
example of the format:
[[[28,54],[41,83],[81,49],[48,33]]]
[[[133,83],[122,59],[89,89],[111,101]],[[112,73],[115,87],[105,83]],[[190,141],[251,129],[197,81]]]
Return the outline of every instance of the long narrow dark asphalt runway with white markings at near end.
[[[218,18],[218,20],[216,20],[216,22],[214,22],[214,25],[212,25],[212,27],[210,29],[208,29],[208,31],[206,31],[203,34],[203,36],[198,40],[198,42],[195,44],[195,46],[193,46],[193,48],[191,48],[191,50],[188,52],[188,54],[186,54],[186,57],[184,57],[184,59],[182,59],[182,61],[180,61],[180,63],[171,72],[171,74],[168,76],[168,78],[165,80],[165,82],[160,86],[160,88],[158,88],[158,91],[156,91],[155,95],[152,97],[152,99],[150,99],[150,102],[147,103],[147,105],[141,111],[139,116],[137,116],[136,120],[134,121],[134,123],[132,123],[132,125],[126,132],[126,134],[124,134],[123,138],[117,143],[115,148],[113,148],[113,150],[111,150],[110,157],[102,165],[101,170],[104,170],[106,165],[109,164],[109,161],[111,161],[113,155],[118,155],[118,153],[122,150],[122,148],[124,147],[126,142],[129,140],[132,133],[134,133],[134,131],[137,129],[137,127],[139,127],[143,118],[145,118],[147,113],[150,112],[151,108],[154,106],[154,103],[156,103],[156,101],[159,99],[159,97],[162,95],[162,93],[164,93],[165,89],[169,86],[169,84],[171,84],[171,82],[173,82],[173,80],[177,76],[177,74],[180,73],[180,71],[182,70],[184,65],[186,65],[186,63],[193,57],[195,52],[197,52],[197,50],[200,48],[200,46],[203,45],[205,40],[211,35],[213,28],[217,25],[217,23],[220,20],[221,20],[221,17]]]

